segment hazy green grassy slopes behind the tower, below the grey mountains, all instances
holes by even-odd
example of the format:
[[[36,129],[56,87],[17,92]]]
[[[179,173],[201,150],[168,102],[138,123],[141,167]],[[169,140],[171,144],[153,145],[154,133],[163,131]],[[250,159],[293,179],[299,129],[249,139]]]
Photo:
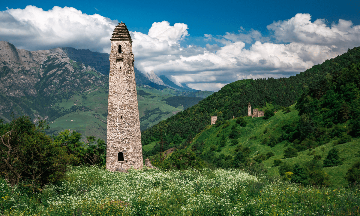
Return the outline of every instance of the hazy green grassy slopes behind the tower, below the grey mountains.
[[[138,95],[142,130],[183,110],[181,106],[172,107],[163,101],[163,99],[178,95],[179,92],[175,90],[157,90],[146,87],[137,87],[137,90],[149,94],[145,96]],[[87,92],[75,94],[69,99],[63,99],[52,104],[53,108],[63,114],[55,120],[49,121],[50,133],[56,134],[62,130],[71,129],[81,133],[83,139],[92,135],[106,140],[107,98],[106,89],[94,87]],[[80,108],[76,109],[76,107]],[[82,108],[86,110],[82,110]]]

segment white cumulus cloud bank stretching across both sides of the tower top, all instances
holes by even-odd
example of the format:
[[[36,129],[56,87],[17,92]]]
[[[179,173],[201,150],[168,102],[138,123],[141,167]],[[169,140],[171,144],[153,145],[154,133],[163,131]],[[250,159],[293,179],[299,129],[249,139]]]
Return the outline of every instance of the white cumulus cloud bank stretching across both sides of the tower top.
[[[44,11],[27,6],[0,11],[0,40],[27,50],[69,46],[109,53],[117,23],[72,7]],[[342,19],[328,25],[299,13],[267,28],[268,37],[242,27],[217,36],[204,32],[207,44],[201,47],[180,45],[191,37],[185,23],[154,22],[147,34],[130,32],[135,66],[167,75],[179,85],[216,91],[239,79],[295,75],[360,45],[360,26]]]

